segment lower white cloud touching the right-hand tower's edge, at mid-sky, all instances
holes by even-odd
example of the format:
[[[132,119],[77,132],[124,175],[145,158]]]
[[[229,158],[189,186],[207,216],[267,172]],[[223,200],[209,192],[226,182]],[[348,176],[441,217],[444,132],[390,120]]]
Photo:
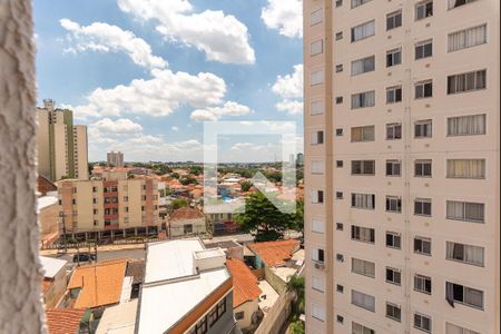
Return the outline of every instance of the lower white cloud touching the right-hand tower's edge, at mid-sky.
[[[275,105],[278,111],[291,115],[303,112],[303,65],[295,65],[291,75],[278,76],[272,86],[274,94],[281,97]]]

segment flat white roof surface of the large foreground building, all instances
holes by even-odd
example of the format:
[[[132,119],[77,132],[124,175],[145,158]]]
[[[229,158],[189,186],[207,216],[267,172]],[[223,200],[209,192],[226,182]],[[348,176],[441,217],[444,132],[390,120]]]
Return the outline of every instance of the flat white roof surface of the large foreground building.
[[[198,238],[148,244],[138,333],[165,333],[230,278],[224,266],[224,253],[204,250]],[[203,266],[197,263],[199,259],[204,261]],[[197,266],[204,269],[197,271]],[[165,305],[176,307],[166,312]]]

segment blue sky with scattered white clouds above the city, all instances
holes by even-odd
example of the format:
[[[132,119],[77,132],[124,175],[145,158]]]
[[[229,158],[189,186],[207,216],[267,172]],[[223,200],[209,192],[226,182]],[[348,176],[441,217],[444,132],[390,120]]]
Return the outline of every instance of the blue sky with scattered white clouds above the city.
[[[274,161],[303,151],[302,0],[35,0],[38,105],[88,126],[89,161]],[[205,121],[256,135],[204,146]],[[291,141],[288,141],[291,143]]]

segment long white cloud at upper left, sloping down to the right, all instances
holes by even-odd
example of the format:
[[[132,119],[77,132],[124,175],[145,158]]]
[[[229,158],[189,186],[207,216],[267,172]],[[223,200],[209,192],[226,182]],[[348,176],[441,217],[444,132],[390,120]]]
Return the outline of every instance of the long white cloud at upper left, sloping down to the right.
[[[59,22],[62,28],[70,32],[68,40],[75,41],[75,46],[69,47],[67,51],[124,51],[134,63],[141,67],[148,69],[167,67],[167,61],[151,55],[151,47],[144,39],[117,26],[94,22],[90,26],[82,27],[69,19],[61,19]]]

